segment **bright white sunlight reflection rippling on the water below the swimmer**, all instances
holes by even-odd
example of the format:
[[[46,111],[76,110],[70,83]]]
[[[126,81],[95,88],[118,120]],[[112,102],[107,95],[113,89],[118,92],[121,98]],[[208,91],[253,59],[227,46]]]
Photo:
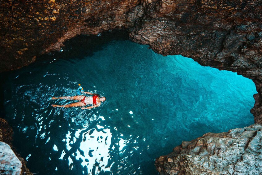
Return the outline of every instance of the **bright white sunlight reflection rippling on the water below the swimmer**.
[[[111,140],[113,135],[110,132],[110,126],[101,126],[101,121],[104,121],[103,123],[106,123],[106,121],[103,116],[97,118],[97,120],[99,119],[100,121],[96,125],[96,128],[87,130],[87,125],[82,129],[76,129],[74,134],[68,131],[65,138],[62,140],[62,142],[66,145],[66,150],[62,150],[62,154],[59,159],[67,159],[69,169],[73,168],[74,160],[78,160],[81,162],[84,169],[82,172],[83,174],[97,174],[105,171],[110,172],[111,167],[114,164],[114,162],[110,162],[110,160],[112,160],[112,156],[114,156],[111,155],[111,153],[114,154],[114,152],[117,151],[119,154],[123,154],[126,151],[124,149],[125,146],[128,146],[131,142],[134,144],[137,143],[136,140],[132,138],[132,135],[129,136],[130,138],[128,140],[124,140],[121,138],[123,137],[123,134],[120,133],[120,138],[114,138],[114,143],[112,144]],[[115,127],[114,130],[117,131],[117,127]],[[77,144],[75,146],[74,144],[79,140],[80,146],[78,147]],[[76,147],[76,149],[71,151],[72,147]],[[137,151],[138,148],[138,146],[133,147],[133,149],[129,152],[130,156],[132,156],[133,151]],[[58,147],[55,144],[53,150],[58,151]],[[122,160],[122,163],[126,158],[127,157]],[[122,168],[122,166],[118,165],[118,170],[121,170]],[[120,173],[121,171],[118,172]]]

